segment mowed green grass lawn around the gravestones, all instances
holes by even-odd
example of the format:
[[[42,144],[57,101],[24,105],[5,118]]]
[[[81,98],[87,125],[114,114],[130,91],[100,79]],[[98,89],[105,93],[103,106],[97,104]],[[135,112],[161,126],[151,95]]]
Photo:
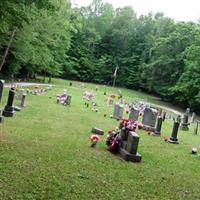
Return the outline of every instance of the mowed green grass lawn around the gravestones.
[[[47,94],[28,95],[27,107],[0,124],[0,199],[200,199],[200,158],[190,154],[193,146],[200,149],[194,126],[179,131],[179,145],[164,142],[172,131],[170,120],[163,124],[162,137],[139,131],[142,162],[125,162],[106,150],[106,134],[96,149],[89,140],[94,126],[105,131],[118,126],[109,118],[113,108],[105,105],[103,95],[118,89],[99,86],[96,113],[85,107],[80,83],[69,87],[69,81],[53,79],[53,84]],[[71,107],[56,104],[63,89],[72,94]],[[86,84],[85,90],[94,89]],[[121,90],[130,101],[157,102]],[[3,105],[7,94],[5,90]]]

